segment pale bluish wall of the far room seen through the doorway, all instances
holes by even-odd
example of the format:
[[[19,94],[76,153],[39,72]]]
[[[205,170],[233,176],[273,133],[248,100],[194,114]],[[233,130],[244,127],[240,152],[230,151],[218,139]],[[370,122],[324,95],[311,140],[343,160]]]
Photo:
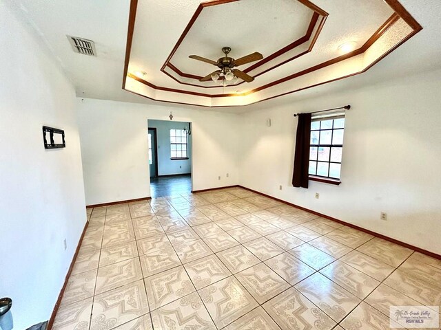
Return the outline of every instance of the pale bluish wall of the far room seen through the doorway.
[[[188,129],[188,122],[149,120],[148,126],[156,128],[158,175],[192,173],[192,135],[187,135],[188,159],[170,159],[170,129]]]

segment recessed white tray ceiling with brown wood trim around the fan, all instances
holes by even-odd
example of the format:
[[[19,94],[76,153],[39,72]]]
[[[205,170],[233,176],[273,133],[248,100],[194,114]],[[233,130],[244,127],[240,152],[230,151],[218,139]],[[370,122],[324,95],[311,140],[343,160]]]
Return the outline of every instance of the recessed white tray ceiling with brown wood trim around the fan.
[[[420,30],[396,0],[132,0],[123,89],[205,107],[247,105],[365,72]],[[342,54],[345,43],[354,49]],[[216,67],[188,56],[216,61],[224,46],[233,58],[263,54],[239,67],[252,83],[198,81]]]

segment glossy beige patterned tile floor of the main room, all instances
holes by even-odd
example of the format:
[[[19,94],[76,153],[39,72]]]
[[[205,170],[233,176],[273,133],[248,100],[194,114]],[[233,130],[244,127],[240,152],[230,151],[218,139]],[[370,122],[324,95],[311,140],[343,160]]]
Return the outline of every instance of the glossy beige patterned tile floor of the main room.
[[[55,330],[390,329],[390,305],[441,305],[441,261],[241,188],[87,211]]]

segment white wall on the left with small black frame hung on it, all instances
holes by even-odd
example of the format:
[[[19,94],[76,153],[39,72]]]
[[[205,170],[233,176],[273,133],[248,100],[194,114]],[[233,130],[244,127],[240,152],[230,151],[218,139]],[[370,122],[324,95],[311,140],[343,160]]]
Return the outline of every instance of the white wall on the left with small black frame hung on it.
[[[26,329],[63,286],[86,221],[83,175],[72,85],[2,1],[0,22],[0,298]],[[66,148],[45,150],[43,125],[64,129]]]

